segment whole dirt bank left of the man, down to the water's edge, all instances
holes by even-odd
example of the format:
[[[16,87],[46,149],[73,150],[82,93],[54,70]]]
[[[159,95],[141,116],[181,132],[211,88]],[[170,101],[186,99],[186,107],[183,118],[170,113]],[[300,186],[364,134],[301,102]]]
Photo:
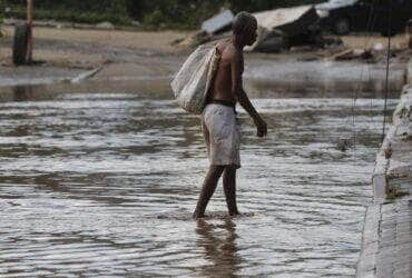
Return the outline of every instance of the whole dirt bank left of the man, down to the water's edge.
[[[101,78],[143,78],[169,75],[182,61],[182,50],[170,42],[187,32],[129,32],[35,28],[35,67],[13,67],[13,28],[3,28],[0,40],[0,83],[38,83],[61,80],[79,71],[102,67]],[[30,77],[33,79],[30,81]]]

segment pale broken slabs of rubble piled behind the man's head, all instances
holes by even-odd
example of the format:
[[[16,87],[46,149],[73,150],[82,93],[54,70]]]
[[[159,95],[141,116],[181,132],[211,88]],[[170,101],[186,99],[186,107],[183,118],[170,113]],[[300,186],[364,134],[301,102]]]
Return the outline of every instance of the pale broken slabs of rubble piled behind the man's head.
[[[254,16],[257,19],[258,37],[246,49],[248,51],[278,52],[293,46],[322,43],[318,16],[312,4],[262,11]],[[233,18],[233,12],[225,10],[204,21],[200,31],[175,43],[192,49],[205,42],[228,38],[232,34]]]

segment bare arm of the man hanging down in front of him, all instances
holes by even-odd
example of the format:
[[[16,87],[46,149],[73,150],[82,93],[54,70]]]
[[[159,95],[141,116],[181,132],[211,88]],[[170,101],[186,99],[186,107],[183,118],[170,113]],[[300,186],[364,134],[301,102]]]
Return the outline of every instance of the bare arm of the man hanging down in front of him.
[[[257,136],[264,137],[267,133],[266,122],[262,119],[256,109],[253,107],[249,98],[247,97],[245,90],[243,89],[243,78],[242,78],[243,68],[244,67],[242,53],[238,53],[237,50],[235,50],[230,62],[232,93],[236,96],[237,101],[252,117],[253,121],[257,127]]]

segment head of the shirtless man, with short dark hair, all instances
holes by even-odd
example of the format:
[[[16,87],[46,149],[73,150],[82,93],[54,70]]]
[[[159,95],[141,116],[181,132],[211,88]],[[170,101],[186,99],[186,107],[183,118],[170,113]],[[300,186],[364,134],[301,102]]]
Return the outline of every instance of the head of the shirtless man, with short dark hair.
[[[243,44],[252,46],[257,38],[257,20],[246,11],[241,11],[233,20],[233,33],[238,37]]]

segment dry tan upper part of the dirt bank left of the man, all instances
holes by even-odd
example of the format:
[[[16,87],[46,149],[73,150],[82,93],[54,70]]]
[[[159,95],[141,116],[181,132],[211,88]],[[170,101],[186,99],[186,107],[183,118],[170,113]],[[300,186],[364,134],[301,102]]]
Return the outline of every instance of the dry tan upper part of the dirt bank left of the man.
[[[0,43],[3,66],[11,61],[13,28],[3,28]],[[35,28],[35,59],[47,64],[92,68],[108,61],[141,61],[145,57],[174,56],[178,49],[170,42],[186,32],[128,32]]]

